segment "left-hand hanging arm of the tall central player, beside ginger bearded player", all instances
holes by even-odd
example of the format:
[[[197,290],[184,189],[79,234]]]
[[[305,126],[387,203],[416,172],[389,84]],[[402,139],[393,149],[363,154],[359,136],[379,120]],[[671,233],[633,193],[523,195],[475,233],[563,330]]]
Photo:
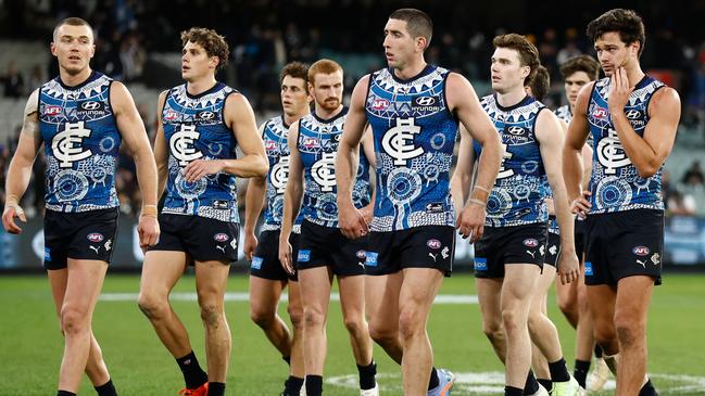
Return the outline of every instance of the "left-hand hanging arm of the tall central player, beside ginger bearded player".
[[[352,186],[355,180],[360,141],[363,139],[367,122],[365,97],[368,85],[369,75],[361,78],[353,89],[336,157],[338,219],[340,220],[340,231],[350,239],[360,238],[368,230],[363,214],[355,208],[352,201]]]

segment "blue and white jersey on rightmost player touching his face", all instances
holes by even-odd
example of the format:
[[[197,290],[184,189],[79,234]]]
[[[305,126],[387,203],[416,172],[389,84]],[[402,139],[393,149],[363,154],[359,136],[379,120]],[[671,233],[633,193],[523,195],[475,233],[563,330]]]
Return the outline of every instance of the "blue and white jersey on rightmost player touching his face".
[[[634,132],[643,137],[649,123],[649,102],[665,85],[644,76],[629,97],[625,115]],[[593,137],[591,214],[624,212],[638,208],[664,209],[660,173],[644,179],[627,156],[612,123],[607,97],[609,77],[595,81],[588,106],[588,122]]]

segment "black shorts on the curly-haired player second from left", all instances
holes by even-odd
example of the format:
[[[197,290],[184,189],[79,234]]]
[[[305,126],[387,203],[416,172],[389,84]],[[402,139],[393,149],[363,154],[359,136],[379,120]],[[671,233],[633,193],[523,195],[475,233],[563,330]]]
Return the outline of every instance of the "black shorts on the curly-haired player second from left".
[[[162,230],[159,242],[149,248],[187,253],[196,261],[223,261],[238,259],[237,222],[226,222],[201,216],[161,214]],[[189,263],[191,264],[191,263]]]

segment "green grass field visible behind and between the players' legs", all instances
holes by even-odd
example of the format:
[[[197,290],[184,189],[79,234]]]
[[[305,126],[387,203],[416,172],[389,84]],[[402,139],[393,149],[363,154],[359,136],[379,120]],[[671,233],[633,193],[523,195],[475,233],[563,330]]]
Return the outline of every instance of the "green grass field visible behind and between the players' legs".
[[[649,368],[660,395],[705,395],[705,276],[667,274],[656,289],[649,324]],[[175,395],[181,374],[137,308],[137,276],[109,274],[103,293],[115,301],[101,301],[93,317],[100,342],[121,395]],[[228,292],[247,293],[247,278],[232,274]],[[192,292],[193,278],[185,277],[176,292]],[[112,294],[117,293],[117,294]],[[441,294],[474,295],[471,277],[446,279]],[[188,295],[187,295],[188,296]],[[555,306],[550,315],[562,335],[566,361],[572,366],[574,334]],[[235,298],[237,299],[237,298]],[[63,343],[46,277],[0,277],[0,395],[54,395]],[[174,302],[189,329],[201,362],[205,360],[203,329],[196,302]],[[280,312],[286,317],[284,304]],[[248,302],[226,305],[232,332],[232,356],[227,395],[278,395],[287,368],[280,356],[249,319]],[[356,370],[342,325],[338,303],[328,321],[329,353],[326,361],[326,395],[357,395]],[[502,366],[481,333],[477,304],[436,304],[429,333],[436,366],[453,370],[458,383],[453,395],[500,395]],[[401,395],[400,369],[376,347],[379,382],[383,395]],[[80,395],[93,395],[84,380]],[[596,395],[610,395],[605,391]]]

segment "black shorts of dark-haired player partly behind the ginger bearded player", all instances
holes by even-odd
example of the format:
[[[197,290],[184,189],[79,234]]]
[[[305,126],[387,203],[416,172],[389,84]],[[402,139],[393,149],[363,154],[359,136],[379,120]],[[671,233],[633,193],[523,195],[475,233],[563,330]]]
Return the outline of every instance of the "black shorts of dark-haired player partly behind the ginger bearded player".
[[[297,281],[297,274],[290,274],[285,271],[279,261],[280,233],[280,230],[260,232],[257,248],[252,256],[252,264],[250,265],[251,276],[273,281]],[[297,257],[299,254],[299,234],[292,232],[289,235],[289,243],[291,243],[291,257]]]

